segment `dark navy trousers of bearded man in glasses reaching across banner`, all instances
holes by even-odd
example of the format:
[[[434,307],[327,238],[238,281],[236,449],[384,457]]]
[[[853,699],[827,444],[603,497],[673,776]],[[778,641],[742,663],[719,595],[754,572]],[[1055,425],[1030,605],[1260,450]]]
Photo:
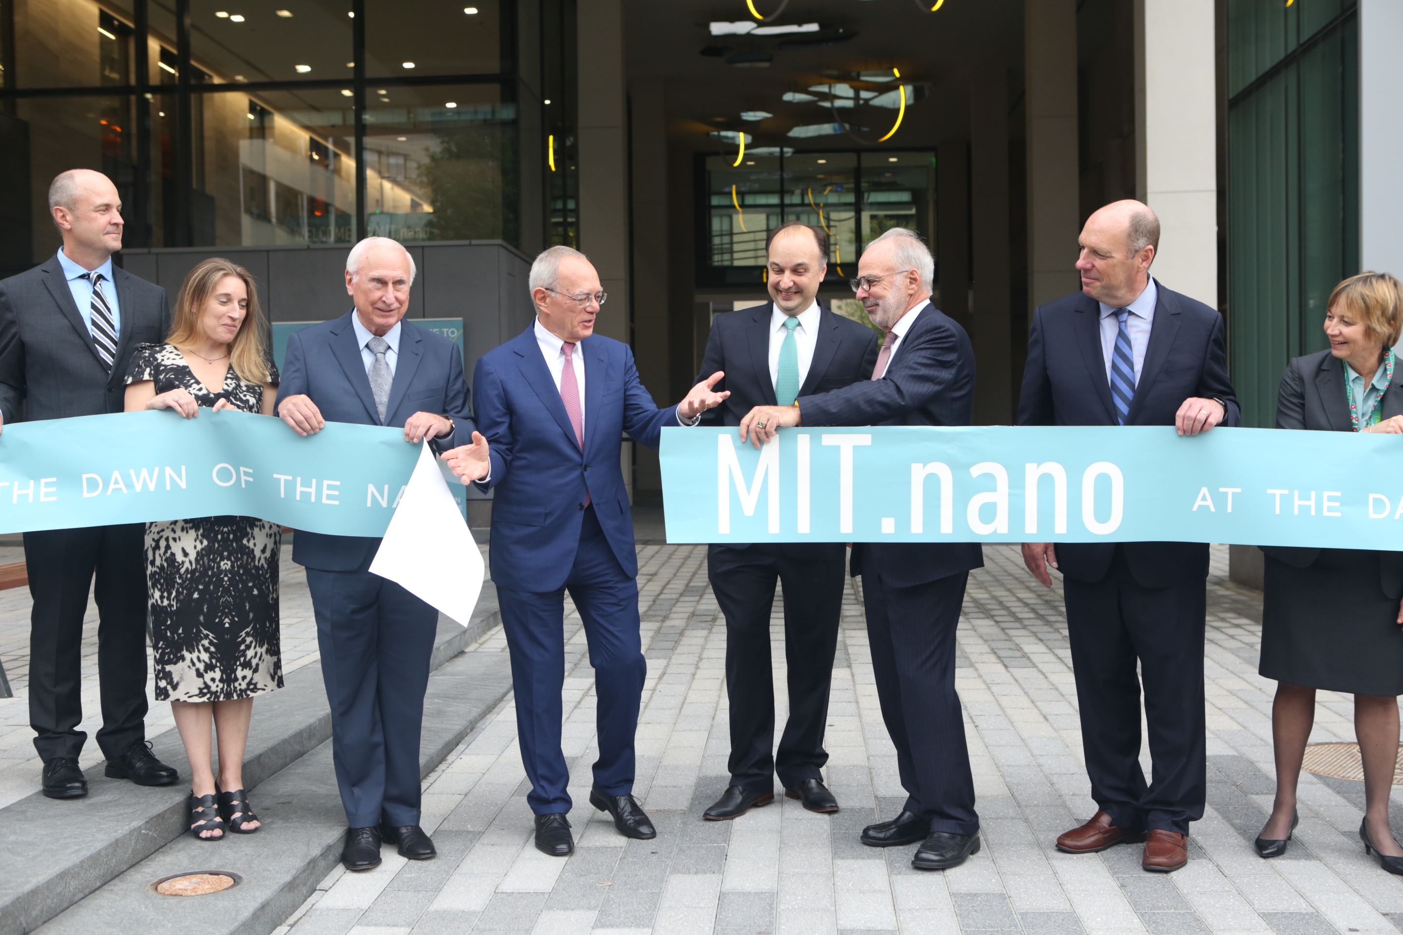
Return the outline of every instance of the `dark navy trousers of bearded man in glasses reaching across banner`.
[[[863,572],[877,699],[897,747],[905,810],[932,831],[974,834],[974,775],[955,694],[955,628],[969,572],[894,587]]]

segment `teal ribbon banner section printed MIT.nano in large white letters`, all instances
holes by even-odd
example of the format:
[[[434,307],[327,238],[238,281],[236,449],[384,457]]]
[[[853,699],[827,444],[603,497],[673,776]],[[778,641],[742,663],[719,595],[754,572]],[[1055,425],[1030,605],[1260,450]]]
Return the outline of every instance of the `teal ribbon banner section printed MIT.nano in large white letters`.
[[[662,430],[669,542],[1403,550],[1403,436],[1159,426]],[[0,500],[4,502],[4,500]]]

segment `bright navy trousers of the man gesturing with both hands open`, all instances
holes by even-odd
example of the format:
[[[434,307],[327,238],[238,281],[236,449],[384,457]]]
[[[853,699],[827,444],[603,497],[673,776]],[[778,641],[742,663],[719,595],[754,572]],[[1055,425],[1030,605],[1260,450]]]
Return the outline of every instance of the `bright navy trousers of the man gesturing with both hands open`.
[[[570,767],[560,749],[560,692],[565,681],[565,592],[585,625],[595,667],[599,760],[593,782],[605,795],[633,792],[633,737],[648,666],[638,636],[638,583],[623,571],[595,507],[585,507],[575,561],[553,592],[497,589],[502,629],[512,656],[516,736],[536,814],[570,812]]]

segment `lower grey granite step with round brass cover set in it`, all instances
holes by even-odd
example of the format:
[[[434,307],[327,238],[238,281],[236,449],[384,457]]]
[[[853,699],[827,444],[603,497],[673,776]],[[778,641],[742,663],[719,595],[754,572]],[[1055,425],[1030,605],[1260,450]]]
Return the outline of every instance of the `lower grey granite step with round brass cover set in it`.
[[[511,691],[505,652],[469,652],[429,677],[421,775],[442,763]],[[331,742],[262,782],[264,827],[217,844],[182,834],[39,928],[41,935],[268,935],[311,896],[341,858],[345,812]],[[393,847],[386,845],[386,854]],[[382,868],[383,869],[383,868]],[[161,896],[157,880],[223,872],[240,882],[208,896]],[[380,871],[369,871],[376,873]]]

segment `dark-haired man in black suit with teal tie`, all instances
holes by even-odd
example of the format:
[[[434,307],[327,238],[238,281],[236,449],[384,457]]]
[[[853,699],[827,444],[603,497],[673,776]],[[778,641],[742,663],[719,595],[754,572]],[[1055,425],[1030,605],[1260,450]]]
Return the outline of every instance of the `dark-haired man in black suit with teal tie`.
[[[818,301],[828,272],[828,233],[803,221],[774,228],[765,247],[773,303],[717,315],[702,376],[727,376],[731,397],[706,425],[741,423],[758,405],[839,390],[871,376],[877,334]],[[721,821],[774,800],[774,775],[810,812],[838,812],[824,785],[824,729],[843,608],[842,542],[711,545],[707,578],[725,615],[725,692],[731,699],[731,782],[702,817]],[[788,722],[774,753],[770,607],[784,587]]]

